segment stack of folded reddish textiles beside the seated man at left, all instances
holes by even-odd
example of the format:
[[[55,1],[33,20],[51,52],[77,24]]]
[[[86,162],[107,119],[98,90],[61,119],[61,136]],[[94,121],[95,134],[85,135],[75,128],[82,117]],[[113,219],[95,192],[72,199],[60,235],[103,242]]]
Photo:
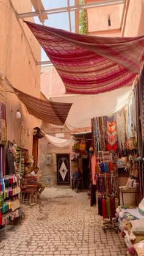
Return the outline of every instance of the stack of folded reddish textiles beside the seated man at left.
[[[37,176],[25,175],[25,177],[21,179],[21,189],[23,189],[23,192],[24,190],[28,190],[29,192],[36,191],[37,186]]]

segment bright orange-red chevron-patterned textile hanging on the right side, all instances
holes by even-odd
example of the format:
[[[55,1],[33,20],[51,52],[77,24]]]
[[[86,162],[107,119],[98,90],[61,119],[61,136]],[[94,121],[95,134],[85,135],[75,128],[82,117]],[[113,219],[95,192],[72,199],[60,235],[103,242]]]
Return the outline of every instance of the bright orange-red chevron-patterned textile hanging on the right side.
[[[105,117],[106,123],[106,150],[112,151],[117,150],[118,141],[117,141],[117,124],[115,120],[115,116]]]

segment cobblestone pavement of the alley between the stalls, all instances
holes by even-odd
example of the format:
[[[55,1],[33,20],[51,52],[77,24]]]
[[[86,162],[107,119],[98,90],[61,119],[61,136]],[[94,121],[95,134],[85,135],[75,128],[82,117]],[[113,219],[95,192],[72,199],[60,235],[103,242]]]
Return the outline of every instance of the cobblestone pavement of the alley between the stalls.
[[[40,203],[26,207],[26,220],[0,243],[0,256],[126,255],[124,239],[115,231],[101,229],[96,207],[87,192],[70,188],[46,188]],[[3,248],[2,248],[3,247]]]

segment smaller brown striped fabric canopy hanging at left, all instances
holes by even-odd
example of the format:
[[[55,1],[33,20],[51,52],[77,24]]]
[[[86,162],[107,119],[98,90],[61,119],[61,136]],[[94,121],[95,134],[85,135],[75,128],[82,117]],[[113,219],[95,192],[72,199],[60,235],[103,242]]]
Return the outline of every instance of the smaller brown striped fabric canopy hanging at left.
[[[16,95],[26,105],[29,114],[34,115],[38,119],[54,125],[63,125],[67,119],[71,103],[52,102],[32,97],[27,93],[15,89]]]

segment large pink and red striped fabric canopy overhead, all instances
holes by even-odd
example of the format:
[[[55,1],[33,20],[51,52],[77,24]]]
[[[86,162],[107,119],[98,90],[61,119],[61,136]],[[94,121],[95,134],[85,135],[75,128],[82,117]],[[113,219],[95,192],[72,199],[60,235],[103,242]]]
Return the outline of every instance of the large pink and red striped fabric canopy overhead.
[[[144,35],[96,37],[26,24],[62,78],[66,93],[97,94],[131,86],[139,73]]]

